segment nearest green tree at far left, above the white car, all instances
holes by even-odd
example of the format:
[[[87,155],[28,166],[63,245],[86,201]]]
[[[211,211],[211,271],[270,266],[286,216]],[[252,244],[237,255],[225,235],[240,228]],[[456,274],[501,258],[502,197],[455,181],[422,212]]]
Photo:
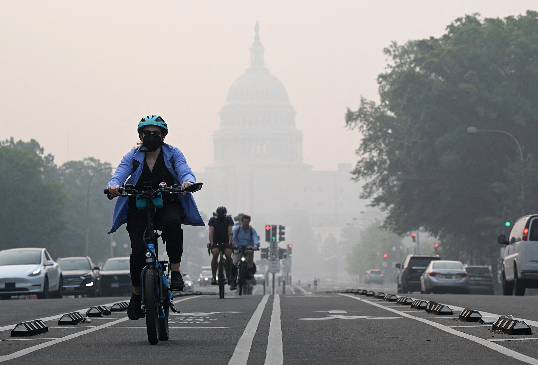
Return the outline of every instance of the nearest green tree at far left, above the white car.
[[[54,159],[42,155],[33,139],[0,142],[0,249],[54,247],[66,227],[66,196],[51,180]]]

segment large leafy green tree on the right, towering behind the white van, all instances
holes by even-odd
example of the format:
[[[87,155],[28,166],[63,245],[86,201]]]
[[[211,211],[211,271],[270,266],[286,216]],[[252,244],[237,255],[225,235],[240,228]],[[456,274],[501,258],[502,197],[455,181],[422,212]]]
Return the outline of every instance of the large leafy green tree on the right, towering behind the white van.
[[[538,13],[458,18],[440,38],[393,43],[378,76],[380,103],[362,99],[346,125],[363,135],[353,173],[363,197],[388,211],[395,233],[422,228],[445,258],[462,252],[492,263],[496,236],[538,203]],[[516,145],[525,146],[525,188]]]

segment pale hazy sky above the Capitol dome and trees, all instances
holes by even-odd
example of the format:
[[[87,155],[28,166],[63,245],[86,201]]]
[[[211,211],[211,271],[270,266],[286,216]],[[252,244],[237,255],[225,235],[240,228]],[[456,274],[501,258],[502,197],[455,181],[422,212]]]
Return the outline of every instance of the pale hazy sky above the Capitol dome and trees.
[[[228,88],[249,65],[260,22],[265,63],[286,86],[316,170],[355,162],[346,107],[377,99],[392,40],[440,36],[452,20],[518,15],[538,1],[7,1],[0,2],[0,138],[35,138],[56,162],[116,165],[143,115],[194,171],[213,159]]]

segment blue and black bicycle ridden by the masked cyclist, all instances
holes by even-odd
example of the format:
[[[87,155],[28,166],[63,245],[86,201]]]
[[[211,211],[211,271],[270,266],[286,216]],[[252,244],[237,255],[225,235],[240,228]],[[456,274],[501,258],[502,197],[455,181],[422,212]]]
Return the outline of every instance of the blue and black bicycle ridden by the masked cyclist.
[[[170,277],[170,267],[168,261],[159,261],[159,251],[157,249],[157,239],[160,235],[153,226],[153,215],[155,209],[162,207],[162,194],[187,194],[199,191],[202,183],[190,185],[185,189],[179,185],[167,187],[164,182],[159,184],[159,189],[153,190],[151,181],[144,181],[144,189],[138,191],[132,184],[119,188],[120,195],[116,196],[136,196],[136,207],[146,211],[146,230],[144,231],[144,244],[146,245],[147,265],[140,274],[142,317],[146,318],[147,340],[155,345],[159,340],[166,341],[168,335],[168,312],[175,310],[172,303],[172,290],[168,278]],[[103,193],[109,194],[108,189]],[[163,241],[164,242],[164,241]],[[168,269],[168,270],[167,270]],[[163,271],[166,271],[164,275]]]

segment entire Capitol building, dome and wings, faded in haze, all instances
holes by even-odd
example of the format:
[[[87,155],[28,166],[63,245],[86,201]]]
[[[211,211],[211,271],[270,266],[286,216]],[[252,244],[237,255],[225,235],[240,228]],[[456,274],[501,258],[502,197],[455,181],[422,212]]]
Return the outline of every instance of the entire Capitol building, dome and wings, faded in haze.
[[[285,243],[294,245],[295,262],[296,254],[320,245],[329,234],[338,239],[367,202],[359,199],[361,185],[350,181],[351,164],[315,171],[303,162],[295,109],[282,82],[265,66],[258,23],[255,31],[250,67],[233,82],[220,112],[214,162],[196,173],[204,183],[196,201],[208,215],[217,206],[232,215],[251,215],[262,241],[265,224],[286,226]],[[292,275],[301,266],[294,263]]]

